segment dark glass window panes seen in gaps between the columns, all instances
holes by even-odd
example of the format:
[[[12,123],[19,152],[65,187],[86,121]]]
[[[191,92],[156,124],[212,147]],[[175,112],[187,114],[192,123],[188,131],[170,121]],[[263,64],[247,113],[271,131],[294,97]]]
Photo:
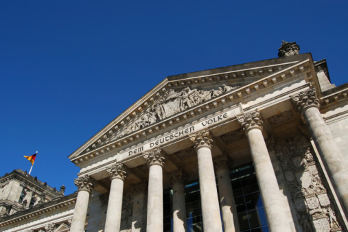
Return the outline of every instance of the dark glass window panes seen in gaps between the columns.
[[[231,183],[237,206],[240,231],[268,231],[254,166],[244,165],[231,171]],[[187,232],[203,231],[199,182],[185,185]],[[163,192],[164,231],[173,231],[172,190]]]

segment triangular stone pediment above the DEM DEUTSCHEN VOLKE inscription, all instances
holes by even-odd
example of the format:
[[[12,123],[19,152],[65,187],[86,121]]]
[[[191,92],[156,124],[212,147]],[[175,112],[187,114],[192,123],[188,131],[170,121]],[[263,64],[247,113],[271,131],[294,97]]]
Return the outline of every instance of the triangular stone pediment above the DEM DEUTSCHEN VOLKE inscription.
[[[243,91],[241,89],[259,80],[266,80],[263,82],[266,87],[268,77],[279,76],[283,71],[289,71],[305,62],[309,57],[310,54],[302,54],[167,77],[73,152],[69,159],[73,161],[80,155],[98,148],[106,147],[106,150],[102,150],[104,153],[132,143],[160,130],[167,120],[170,125],[173,118],[180,121],[176,115],[184,114],[185,119],[185,115],[194,114],[192,108],[207,103],[225,102],[226,99],[233,100],[232,93],[237,96],[248,93],[248,87]],[[285,77],[285,74],[283,75]],[[274,81],[277,81],[277,78],[273,79]],[[258,88],[258,84],[254,84],[254,87]],[[125,139],[127,137],[129,138]],[[107,146],[111,143],[112,146]]]

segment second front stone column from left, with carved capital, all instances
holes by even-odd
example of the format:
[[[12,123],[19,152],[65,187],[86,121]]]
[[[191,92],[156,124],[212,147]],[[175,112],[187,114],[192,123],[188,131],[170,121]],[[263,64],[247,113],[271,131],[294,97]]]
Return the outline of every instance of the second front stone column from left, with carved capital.
[[[111,176],[108,210],[106,211],[105,232],[117,232],[121,227],[122,198],[126,170],[121,162],[106,168]]]

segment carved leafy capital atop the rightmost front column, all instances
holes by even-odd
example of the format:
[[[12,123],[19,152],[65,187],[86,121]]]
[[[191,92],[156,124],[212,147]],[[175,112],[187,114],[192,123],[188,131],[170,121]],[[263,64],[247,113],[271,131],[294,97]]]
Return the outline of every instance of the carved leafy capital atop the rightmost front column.
[[[316,91],[314,88],[307,91],[300,92],[297,95],[290,96],[291,102],[297,112],[301,113],[305,108],[316,107],[319,108],[319,100],[316,97]]]

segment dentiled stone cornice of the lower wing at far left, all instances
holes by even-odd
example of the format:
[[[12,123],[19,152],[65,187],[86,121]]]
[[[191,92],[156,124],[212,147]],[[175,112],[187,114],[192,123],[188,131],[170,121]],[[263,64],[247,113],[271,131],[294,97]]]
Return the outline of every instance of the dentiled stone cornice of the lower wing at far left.
[[[16,222],[22,223],[27,220],[32,221],[33,218],[40,216],[42,214],[73,206],[76,204],[76,198],[77,198],[77,194],[71,194],[71,195],[65,196],[64,198],[58,199],[58,200],[62,200],[61,202],[56,202],[56,200],[54,200],[51,202],[47,202],[44,205],[39,205],[38,207],[32,207],[25,211],[19,211],[6,218],[1,218],[0,228],[6,227],[10,224],[14,224]]]

